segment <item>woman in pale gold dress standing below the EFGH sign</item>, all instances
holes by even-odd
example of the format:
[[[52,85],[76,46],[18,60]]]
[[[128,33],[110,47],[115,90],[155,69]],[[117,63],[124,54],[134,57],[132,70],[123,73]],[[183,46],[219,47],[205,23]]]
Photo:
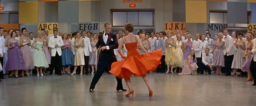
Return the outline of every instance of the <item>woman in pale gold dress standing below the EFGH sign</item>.
[[[76,32],[77,39],[75,40],[75,59],[74,59],[74,71],[71,73],[71,75],[76,74],[76,68],[77,66],[80,66],[80,75],[83,75],[83,66],[85,65],[84,61],[84,39],[80,38],[81,34],[79,32]]]

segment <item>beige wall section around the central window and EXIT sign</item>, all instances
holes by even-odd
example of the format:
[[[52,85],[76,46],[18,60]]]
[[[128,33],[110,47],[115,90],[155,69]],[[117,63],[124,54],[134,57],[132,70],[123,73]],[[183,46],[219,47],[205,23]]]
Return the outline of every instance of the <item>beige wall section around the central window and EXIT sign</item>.
[[[146,2],[145,2],[146,1]],[[171,3],[172,0],[145,0],[143,3],[134,3],[136,7],[130,8],[130,3],[123,3],[122,0],[100,0],[100,31],[104,30],[104,23],[111,21],[110,9],[155,9],[155,31],[164,30],[165,18],[172,20],[171,6],[165,8],[165,3]],[[169,4],[170,5],[170,4]],[[167,15],[164,15],[166,13]],[[135,29],[138,27],[135,27]]]

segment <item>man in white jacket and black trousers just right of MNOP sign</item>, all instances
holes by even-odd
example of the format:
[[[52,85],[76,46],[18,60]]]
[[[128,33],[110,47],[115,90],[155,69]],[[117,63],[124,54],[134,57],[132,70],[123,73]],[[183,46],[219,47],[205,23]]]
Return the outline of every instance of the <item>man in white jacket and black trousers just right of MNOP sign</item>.
[[[223,33],[225,36],[225,46],[226,46],[226,58],[225,58],[225,76],[231,75],[231,65],[233,62],[234,54],[235,54],[235,46],[233,43],[233,38],[229,35],[228,29],[224,29]]]

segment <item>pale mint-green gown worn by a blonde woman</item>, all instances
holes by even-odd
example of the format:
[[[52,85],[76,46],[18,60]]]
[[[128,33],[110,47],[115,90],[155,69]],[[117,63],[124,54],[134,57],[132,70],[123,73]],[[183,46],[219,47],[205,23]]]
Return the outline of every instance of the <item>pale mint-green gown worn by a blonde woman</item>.
[[[43,42],[36,42],[36,47],[40,48],[39,50],[33,49],[33,60],[34,60],[34,66],[36,67],[44,67],[48,68],[48,62],[46,60],[44,50],[43,50]],[[45,47],[47,48],[47,47]]]

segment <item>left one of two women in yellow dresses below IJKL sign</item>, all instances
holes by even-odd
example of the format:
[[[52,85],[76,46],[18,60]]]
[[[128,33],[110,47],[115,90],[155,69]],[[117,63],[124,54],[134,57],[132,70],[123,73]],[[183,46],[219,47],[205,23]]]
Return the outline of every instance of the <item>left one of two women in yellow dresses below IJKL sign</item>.
[[[173,66],[180,64],[180,60],[175,50],[175,40],[171,38],[171,31],[167,31],[167,39],[165,39],[165,47],[166,47],[166,54],[165,54],[165,64],[167,65],[167,73],[170,72],[171,66],[171,73],[173,73]]]

